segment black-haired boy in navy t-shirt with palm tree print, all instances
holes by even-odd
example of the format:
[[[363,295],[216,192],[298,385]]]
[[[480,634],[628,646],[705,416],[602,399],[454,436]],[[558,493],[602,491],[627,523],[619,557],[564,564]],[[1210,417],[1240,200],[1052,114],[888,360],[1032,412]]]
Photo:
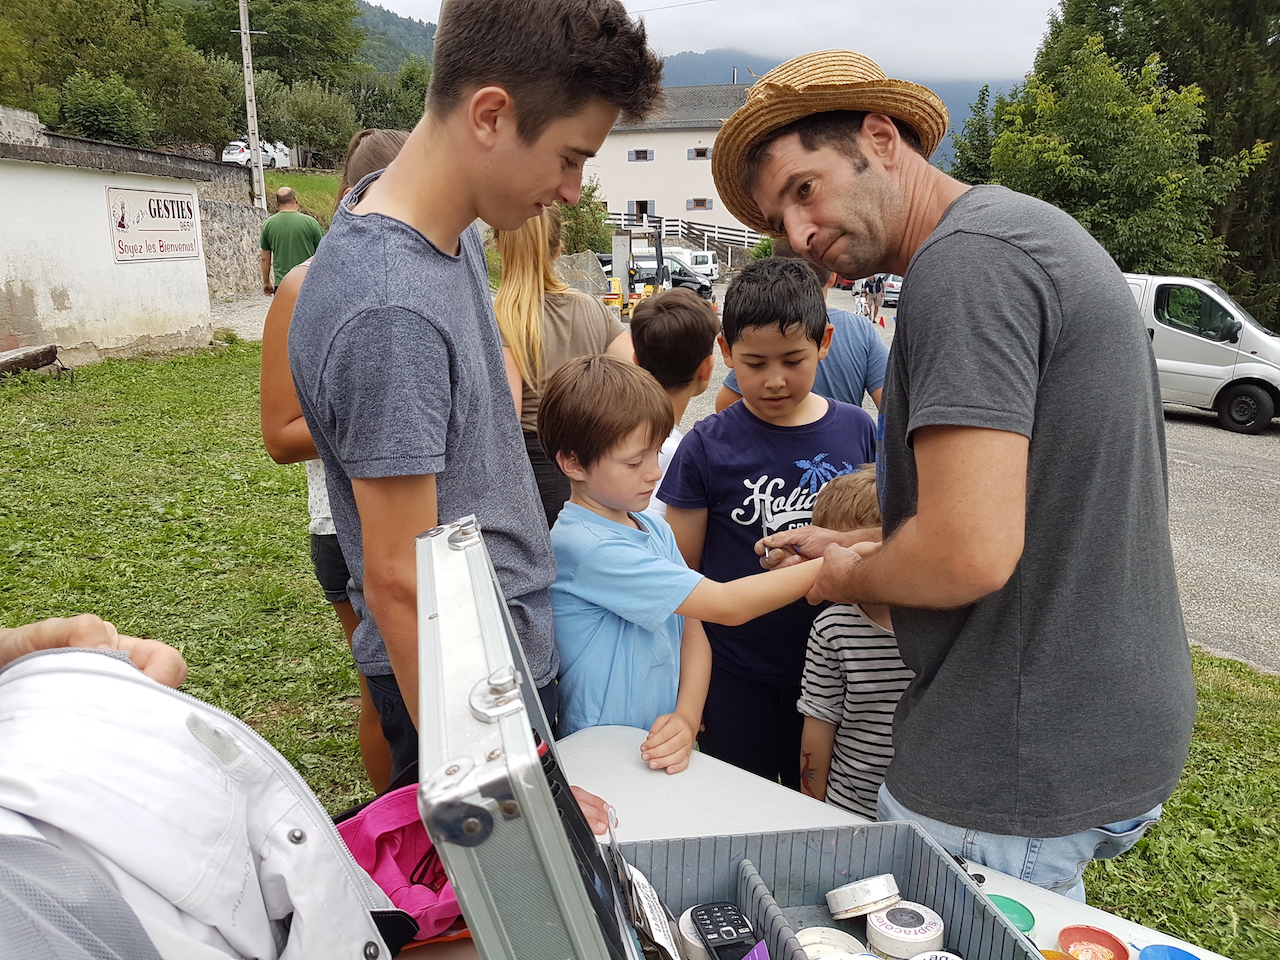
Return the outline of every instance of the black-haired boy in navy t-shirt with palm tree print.
[[[658,494],[691,568],[714,580],[755,572],[756,540],[808,525],[823,484],[874,460],[870,416],[812,392],[831,335],[805,264],[759,260],[730,284],[719,346],[742,399],[690,430]],[[797,600],[742,626],[705,625],[714,666],[704,753],[799,788],[795,704],[819,612]]]

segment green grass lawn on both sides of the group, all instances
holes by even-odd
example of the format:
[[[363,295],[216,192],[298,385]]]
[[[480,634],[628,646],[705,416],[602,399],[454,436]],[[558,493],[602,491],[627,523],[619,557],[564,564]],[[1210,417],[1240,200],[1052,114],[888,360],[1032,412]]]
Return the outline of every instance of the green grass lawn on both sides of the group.
[[[311,575],[303,471],[259,439],[257,365],[257,344],[233,343],[74,384],[0,379],[0,623],[91,611],[177,645],[184,689],[250,722],[337,810],[366,790],[356,675]],[[1201,654],[1196,676],[1181,785],[1135,851],[1091,868],[1091,902],[1275,960],[1280,678]]]

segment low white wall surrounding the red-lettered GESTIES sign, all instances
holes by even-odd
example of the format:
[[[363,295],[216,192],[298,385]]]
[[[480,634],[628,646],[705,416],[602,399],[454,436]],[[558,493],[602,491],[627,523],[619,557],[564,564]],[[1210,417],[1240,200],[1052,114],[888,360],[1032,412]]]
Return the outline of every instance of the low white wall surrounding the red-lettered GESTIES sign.
[[[202,251],[116,262],[109,187],[198,198],[188,180],[0,156],[0,351],[56,343],[83,364],[209,343]]]

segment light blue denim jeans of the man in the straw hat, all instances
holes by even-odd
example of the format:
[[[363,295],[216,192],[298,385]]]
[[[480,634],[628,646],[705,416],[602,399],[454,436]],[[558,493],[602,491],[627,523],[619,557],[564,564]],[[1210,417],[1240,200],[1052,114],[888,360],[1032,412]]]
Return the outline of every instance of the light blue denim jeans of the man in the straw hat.
[[[922,817],[902,806],[881,785],[876,803],[879,820],[915,820],[945,850],[980,863],[1010,877],[1052,890],[1084,902],[1084,868],[1089,860],[1110,860],[1138,842],[1147,827],[1160,819],[1164,804],[1142,817],[1073,833],[1069,837],[1010,837],[955,827]]]

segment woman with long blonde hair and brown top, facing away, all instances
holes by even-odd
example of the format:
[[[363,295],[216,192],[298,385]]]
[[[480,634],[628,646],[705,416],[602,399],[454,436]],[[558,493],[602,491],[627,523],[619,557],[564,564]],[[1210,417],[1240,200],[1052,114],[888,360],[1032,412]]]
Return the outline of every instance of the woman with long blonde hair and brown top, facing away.
[[[559,207],[543,210],[518,230],[497,232],[502,284],[493,308],[502,332],[507,381],[525,434],[547,525],[568,499],[568,479],[538,443],[538,404],[556,370],[573,357],[612,353],[635,361],[631,334],[604,303],[571,289],[556,274],[561,252]]]

